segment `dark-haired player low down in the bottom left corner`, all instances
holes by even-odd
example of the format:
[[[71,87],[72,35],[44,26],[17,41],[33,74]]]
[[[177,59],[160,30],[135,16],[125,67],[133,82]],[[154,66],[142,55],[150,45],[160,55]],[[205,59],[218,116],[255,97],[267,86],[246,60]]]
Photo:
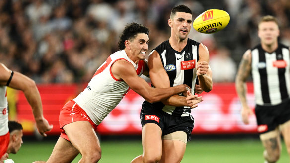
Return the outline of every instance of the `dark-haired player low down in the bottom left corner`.
[[[6,154],[2,156],[1,161],[8,159],[9,154],[16,154],[23,143],[22,136],[23,136],[23,128],[22,125],[16,121],[8,121],[9,133],[10,133],[10,140],[9,145],[6,151]]]

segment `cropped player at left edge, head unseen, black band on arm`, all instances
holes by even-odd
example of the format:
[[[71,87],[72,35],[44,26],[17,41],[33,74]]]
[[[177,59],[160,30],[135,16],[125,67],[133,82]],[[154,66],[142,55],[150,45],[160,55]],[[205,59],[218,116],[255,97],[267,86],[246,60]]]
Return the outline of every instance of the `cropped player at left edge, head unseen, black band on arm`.
[[[0,158],[6,153],[9,143],[8,128],[8,103],[7,103],[7,86],[21,90],[29,102],[36,127],[42,136],[45,132],[52,129],[48,121],[43,117],[41,97],[35,82],[27,76],[9,70],[4,64],[0,63]]]

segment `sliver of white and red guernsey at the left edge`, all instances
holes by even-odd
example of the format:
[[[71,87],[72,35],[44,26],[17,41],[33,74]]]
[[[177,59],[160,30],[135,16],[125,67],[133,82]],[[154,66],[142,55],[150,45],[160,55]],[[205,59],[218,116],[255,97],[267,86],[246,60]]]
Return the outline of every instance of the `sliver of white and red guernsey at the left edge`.
[[[9,132],[6,86],[0,86],[0,136]]]

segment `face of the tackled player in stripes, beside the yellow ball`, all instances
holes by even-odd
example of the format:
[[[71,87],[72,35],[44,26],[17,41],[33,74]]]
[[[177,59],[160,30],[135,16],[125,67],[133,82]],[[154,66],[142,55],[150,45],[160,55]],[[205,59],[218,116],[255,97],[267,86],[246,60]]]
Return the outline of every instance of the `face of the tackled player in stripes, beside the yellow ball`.
[[[176,12],[169,26],[173,28],[174,35],[178,36],[180,40],[187,39],[192,25],[192,15],[185,12]]]

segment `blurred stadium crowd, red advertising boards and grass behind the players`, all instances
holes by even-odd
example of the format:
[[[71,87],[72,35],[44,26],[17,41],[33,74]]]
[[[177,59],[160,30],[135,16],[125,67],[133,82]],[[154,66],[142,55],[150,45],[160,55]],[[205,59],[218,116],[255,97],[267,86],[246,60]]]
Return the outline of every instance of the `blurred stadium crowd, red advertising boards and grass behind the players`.
[[[182,163],[262,162],[255,117],[251,117],[250,125],[242,124],[233,82],[242,54],[259,43],[256,29],[261,16],[276,16],[281,23],[279,41],[290,45],[289,0],[0,0],[0,62],[36,81],[44,116],[54,124],[47,138],[35,134],[25,97],[8,89],[9,118],[22,123],[25,134],[21,150],[10,157],[16,163],[46,160],[60,132],[59,110],[118,50],[124,26],[131,22],[147,26],[150,52],[169,38],[167,20],[177,4],[189,6],[193,18],[212,8],[227,11],[231,18],[221,32],[200,34],[193,28],[190,32],[190,38],[210,51],[214,87],[202,95],[205,101],[192,112],[196,120],[193,139]],[[251,79],[248,88],[253,107]],[[101,163],[122,163],[123,159],[128,163],[142,153],[142,101],[130,91],[99,126]],[[109,160],[113,158],[117,161]],[[281,158],[278,163],[287,162],[285,148]]]

